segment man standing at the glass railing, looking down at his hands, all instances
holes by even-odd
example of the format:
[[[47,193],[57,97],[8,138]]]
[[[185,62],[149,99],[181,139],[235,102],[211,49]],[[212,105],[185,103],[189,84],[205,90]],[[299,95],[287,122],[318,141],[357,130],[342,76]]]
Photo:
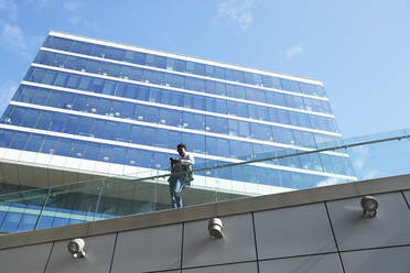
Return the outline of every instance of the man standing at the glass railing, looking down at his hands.
[[[192,176],[192,165],[194,164],[194,156],[186,153],[186,145],[184,143],[180,143],[176,146],[176,151],[180,154],[180,159],[170,159],[171,176],[168,182],[170,183],[172,207],[181,208],[181,192],[194,179]]]

